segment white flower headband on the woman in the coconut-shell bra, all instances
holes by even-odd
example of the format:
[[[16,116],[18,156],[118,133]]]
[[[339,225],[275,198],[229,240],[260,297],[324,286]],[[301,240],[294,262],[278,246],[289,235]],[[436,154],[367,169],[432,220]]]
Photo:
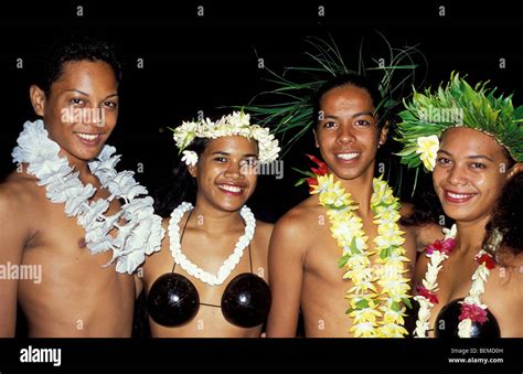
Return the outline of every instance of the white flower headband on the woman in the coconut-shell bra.
[[[188,165],[195,165],[198,163],[196,152],[184,150],[195,138],[216,139],[230,136],[242,136],[247,139],[253,138],[257,140],[259,163],[275,161],[280,151],[278,140],[269,132],[268,128],[250,125],[249,119],[250,116],[243,111],[233,111],[233,114],[223,116],[216,122],[211,121],[209,118],[196,122],[182,122],[182,125],[173,130],[177,147],[180,149],[180,153],[183,152],[182,161]]]

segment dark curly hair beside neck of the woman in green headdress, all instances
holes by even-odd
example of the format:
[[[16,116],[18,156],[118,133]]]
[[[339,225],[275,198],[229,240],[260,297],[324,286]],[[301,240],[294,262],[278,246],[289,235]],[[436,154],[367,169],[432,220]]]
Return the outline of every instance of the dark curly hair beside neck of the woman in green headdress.
[[[517,173],[504,185],[492,218],[487,225],[487,243],[494,228],[503,234],[495,255],[523,253],[523,173]],[[487,246],[489,249],[489,247]],[[499,259],[500,256],[497,256]]]

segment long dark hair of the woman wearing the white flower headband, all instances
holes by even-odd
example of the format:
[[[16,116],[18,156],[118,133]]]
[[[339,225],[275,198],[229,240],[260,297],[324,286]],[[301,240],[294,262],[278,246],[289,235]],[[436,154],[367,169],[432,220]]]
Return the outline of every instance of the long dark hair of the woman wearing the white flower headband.
[[[205,150],[207,142],[209,139],[196,138],[185,148],[185,150],[196,152],[200,158]],[[185,162],[182,162],[180,159],[169,182],[159,188],[154,193],[154,211],[160,216],[167,217],[178,205],[180,205],[180,203],[184,201],[195,204],[196,191],[196,179],[191,175]]]

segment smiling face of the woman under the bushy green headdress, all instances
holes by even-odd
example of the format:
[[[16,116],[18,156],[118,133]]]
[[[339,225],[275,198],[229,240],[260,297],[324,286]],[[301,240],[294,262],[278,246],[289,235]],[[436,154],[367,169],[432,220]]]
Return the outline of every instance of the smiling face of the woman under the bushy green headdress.
[[[433,181],[445,213],[461,222],[487,221],[506,181],[509,159],[495,139],[456,127],[445,131]]]

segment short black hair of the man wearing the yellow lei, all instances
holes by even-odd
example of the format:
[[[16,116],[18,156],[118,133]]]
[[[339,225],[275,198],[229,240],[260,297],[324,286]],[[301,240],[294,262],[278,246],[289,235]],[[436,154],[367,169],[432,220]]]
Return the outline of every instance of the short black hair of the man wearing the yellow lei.
[[[318,122],[318,114],[321,110],[321,99],[323,96],[329,93],[330,90],[338,88],[338,87],[343,87],[343,86],[354,86],[357,88],[363,88],[369,93],[369,96],[371,96],[372,105],[374,108],[376,108],[377,114],[380,115],[380,120],[377,122],[377,127],[381,128],[385,120],[382,118],[382,107],[381,103],[383,101],[383,96],[380,93],[378,85],[372,81],[371,78],[359,75],[359,74],[343,74],[343,75],[338,75],[325,83],[318,89],[316,95],[313,96],[313,116],[314,116],[314,124]],[[384,117],[384,116],[383,116]]]

